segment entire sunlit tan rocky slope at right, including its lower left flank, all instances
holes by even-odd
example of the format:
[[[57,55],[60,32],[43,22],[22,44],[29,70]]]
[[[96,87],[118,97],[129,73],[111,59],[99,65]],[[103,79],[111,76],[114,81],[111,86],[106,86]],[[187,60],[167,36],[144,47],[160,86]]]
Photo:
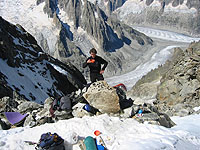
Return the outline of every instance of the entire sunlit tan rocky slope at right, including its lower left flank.
[[[142,77],[128,95],[139,103],[154,103],[170,116],[199,113],[199,47],[200,42],[193,42],[186,51],[176,48],[171,60]]]

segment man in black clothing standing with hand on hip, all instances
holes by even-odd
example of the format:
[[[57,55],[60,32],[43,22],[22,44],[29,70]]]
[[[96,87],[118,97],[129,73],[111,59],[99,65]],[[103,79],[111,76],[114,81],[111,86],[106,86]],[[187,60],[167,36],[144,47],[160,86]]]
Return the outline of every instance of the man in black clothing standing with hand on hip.
[[[86,62],[83,63],[83,68],[89,66],[90,68],[90,80],[91,82],[96,82],[99,80],[104,80],[103,73],[108,65],[108,62],[97,56],[97,51],[95,48],[90,50],[90,57],[87,58]],[[103,67],[101,67],[103,65]]]

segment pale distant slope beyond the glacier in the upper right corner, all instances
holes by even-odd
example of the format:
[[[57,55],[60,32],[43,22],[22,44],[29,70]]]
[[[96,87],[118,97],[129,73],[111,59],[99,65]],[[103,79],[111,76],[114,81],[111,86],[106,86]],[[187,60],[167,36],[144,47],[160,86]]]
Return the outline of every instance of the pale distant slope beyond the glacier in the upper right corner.
[[[120,20],[141,25],[200,35],[199,0],[127,0],[115,10]]]

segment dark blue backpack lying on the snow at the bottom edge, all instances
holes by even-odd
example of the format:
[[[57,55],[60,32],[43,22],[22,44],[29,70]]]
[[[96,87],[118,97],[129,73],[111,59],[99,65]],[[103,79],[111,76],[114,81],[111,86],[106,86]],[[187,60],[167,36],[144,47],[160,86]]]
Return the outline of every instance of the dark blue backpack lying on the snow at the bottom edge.
[[[57,134],[50,132],[41,135],[36,150],[65,150],[64,140]]]

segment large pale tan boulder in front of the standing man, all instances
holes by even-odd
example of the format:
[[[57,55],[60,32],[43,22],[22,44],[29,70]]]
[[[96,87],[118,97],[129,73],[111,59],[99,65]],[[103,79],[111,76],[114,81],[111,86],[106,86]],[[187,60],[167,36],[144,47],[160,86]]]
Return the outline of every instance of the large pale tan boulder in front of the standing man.
[[[91,84],[83,97],[102,113],[117,113],[120,110],[116,89],[109,86],[106,81]]]

